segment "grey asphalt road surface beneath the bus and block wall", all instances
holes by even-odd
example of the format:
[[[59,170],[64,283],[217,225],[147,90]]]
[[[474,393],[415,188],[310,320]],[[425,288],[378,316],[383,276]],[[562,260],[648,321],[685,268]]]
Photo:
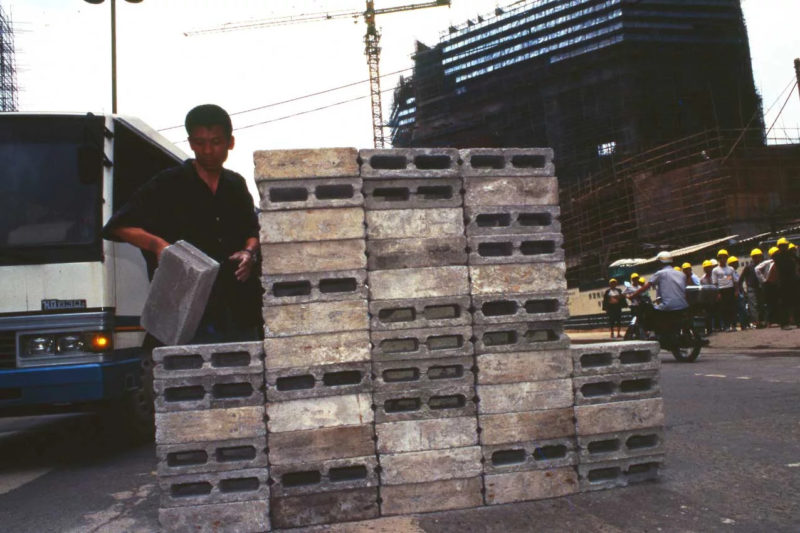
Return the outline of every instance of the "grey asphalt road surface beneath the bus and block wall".
[[[315,530],[800,531],[800,349],[711,348],[694,364],[661,355],[659,481]],[[157,531],[155,479],[152,445],[115,442],[88,418],[0,420],[3,532]]]

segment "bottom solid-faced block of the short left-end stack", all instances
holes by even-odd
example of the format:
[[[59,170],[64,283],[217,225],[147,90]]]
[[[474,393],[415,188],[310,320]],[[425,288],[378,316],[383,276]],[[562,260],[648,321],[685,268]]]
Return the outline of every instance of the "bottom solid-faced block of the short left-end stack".
[[[269,531],[269,501],[192,505],[158,510],[168,533],[257,533]]]

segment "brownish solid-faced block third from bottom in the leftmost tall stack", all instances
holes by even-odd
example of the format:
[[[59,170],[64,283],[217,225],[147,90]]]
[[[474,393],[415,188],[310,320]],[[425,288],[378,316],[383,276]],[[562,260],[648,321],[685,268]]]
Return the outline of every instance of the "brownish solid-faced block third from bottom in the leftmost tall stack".
[[[372,424],[270,433],[269,462],[296,465],[375,453]]]

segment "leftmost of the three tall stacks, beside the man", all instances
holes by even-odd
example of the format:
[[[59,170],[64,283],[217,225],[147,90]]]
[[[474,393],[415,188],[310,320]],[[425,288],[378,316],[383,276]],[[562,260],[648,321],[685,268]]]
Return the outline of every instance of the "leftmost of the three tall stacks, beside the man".
[[[256,152],[255,178],[273,525],[377,517],[358,153]]]

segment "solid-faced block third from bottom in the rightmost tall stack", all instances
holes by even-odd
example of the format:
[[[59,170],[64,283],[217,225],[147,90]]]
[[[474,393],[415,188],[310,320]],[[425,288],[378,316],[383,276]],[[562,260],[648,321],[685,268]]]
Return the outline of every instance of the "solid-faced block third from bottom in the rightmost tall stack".
[[[575,410],[572,407],[479,415],[481,443],[484,446],[547,440],[575,435]]]

